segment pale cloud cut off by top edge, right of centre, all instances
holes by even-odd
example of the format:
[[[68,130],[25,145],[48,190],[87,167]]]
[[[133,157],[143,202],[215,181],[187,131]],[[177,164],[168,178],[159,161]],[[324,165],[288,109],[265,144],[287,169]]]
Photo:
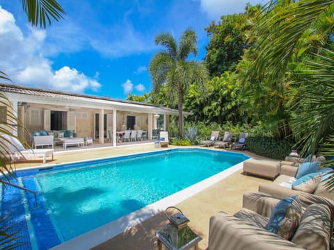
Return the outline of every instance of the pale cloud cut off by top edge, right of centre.
[[[222,15],[244,12],[247,3],[261,2],[263,0],[200,0],[200,8],[210,18],[219,20]]]

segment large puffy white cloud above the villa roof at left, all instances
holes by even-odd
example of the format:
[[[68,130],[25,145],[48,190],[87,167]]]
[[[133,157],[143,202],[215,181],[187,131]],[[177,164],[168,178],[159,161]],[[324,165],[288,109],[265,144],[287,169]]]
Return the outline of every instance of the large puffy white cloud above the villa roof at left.
[[[43,55],[45,30],[29,26],[28,34],[23,35],[13,15],[1,6],[0,12],[1,71],[13,83],[70,92],[99,90],[101,84],[97,80],[77,69],[65,65],[56,71],[52,69],[52,62]]]

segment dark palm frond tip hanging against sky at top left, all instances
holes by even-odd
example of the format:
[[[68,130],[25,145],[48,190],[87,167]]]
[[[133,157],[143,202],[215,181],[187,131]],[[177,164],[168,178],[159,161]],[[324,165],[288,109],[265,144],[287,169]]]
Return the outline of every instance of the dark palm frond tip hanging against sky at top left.
[[[56,0],[21,0],[22,8],[33,26],[47,27],[51,19],[57,22],[65,15],[65,10]]]

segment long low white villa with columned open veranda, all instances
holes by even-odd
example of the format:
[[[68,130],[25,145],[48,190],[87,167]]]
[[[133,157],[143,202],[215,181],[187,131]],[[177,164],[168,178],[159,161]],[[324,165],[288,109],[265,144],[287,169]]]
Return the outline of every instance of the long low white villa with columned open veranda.
[[[152,139],[158,117],[164,118],[160,129],[167,131],[170,115],[178,115],[177,110],[170,108],[88,94],[5,83],[0,83],[0,91],[6,94],[15,108],[15,115],[27,129],[18,131],[19,137],[27,142],[31,141],[34,131],[71,130],[77,137],[91,137],[100,144],[109,140],[110,133],[109,141],[116,146],[118,131],[143,130],[147,131],[148,139]]]

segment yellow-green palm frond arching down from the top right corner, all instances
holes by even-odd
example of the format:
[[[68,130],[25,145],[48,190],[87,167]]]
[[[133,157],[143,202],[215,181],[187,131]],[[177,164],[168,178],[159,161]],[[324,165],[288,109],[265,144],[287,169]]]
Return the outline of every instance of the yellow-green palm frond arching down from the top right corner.
[[[257,23],[258,54],[253,74],[277,81],[285,74],[296,43],[333,0],[271,1]],[[263,69],[266,69],[265,71]]]

